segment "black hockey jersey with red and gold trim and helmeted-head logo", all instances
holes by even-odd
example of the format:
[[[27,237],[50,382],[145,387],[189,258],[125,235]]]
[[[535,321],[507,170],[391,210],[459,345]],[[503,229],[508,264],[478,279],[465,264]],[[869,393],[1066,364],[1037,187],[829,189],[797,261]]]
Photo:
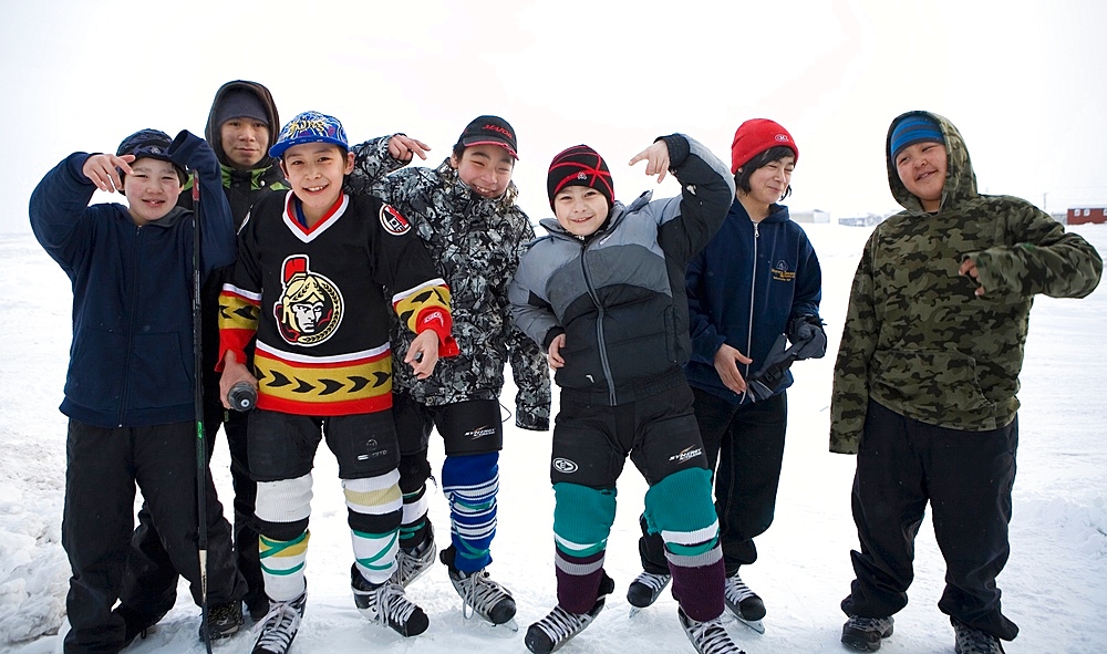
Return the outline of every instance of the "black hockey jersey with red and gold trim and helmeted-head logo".
[[[407,220],[371,196],[343,195],[311,228],[296,197],[269,194],[238,237],[234,278],[219,297],[219,365],[246,361],[257,335],[258,407],[335,416],[392,406],[390,310],[438,335],[452,356],[449,288]],[[384,288],[404,289],[386,298]],[[391,308],[390,308],[391,304]]]

